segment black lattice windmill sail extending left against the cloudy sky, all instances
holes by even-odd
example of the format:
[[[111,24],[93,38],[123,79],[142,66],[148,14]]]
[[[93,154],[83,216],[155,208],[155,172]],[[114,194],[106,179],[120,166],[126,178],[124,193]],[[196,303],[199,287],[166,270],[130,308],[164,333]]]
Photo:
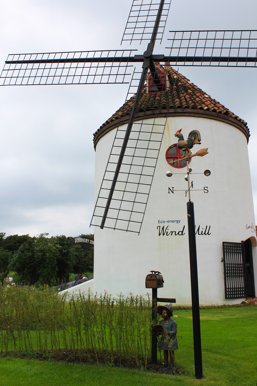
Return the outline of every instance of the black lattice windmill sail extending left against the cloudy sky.
[[[129,83],[136,50],[8,55],[0,85]],[[139,59],[138,59],[139,60]]]

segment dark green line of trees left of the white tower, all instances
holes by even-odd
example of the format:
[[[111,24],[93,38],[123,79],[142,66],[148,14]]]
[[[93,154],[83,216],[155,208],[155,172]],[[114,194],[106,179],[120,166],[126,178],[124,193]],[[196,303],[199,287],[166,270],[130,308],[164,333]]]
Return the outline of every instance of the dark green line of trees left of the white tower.
[[[93,271],[94,246],[89,250],[74,245],[64,235],[10,235],[0,233],[0,281],[15,271],[25,284],[57,285],[69,281],[71,273]],[[93,234],[80,237],[94,239]]]

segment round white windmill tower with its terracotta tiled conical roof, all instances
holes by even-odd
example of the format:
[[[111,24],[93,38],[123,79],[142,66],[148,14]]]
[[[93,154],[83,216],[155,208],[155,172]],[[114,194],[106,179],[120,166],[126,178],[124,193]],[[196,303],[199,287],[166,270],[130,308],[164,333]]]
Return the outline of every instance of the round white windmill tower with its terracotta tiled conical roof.
[[[254,269],[257,277],[247,123],[167,63],[155,64],[163,77],[163,89],[159,91],[152,85],[149,73],[104,229],[95,227],[94,291],[143,295],[145,273],[156,267],[165,273],[163,295],[176,297],[181,305],[191,304],[183,194],[187,188],[183,178],[186,161],[176,163],[173,168],[167,164],[183,154],[177,149],[174,137],[182,128],[184,136],[191,130],[200,131],[202,146],[209,149],[204,160],[195,157],[190,163],[191,197],[197,208],[200,304],[240,303],[247,295],[255,296]],[[113,178],[117,149],[120,138],[124,137],[133,99],[94,134],[95,225],[101,225],[106,191]],[[171,178],[166,177],[169,168],[173,171]],[[208,178],[203,174],[205,169],[211,171]],[[241,240],[246,241],[241,243]],[[223,242],[232,244],[223,245]],[[250,264],[250,273],[245,259]]]

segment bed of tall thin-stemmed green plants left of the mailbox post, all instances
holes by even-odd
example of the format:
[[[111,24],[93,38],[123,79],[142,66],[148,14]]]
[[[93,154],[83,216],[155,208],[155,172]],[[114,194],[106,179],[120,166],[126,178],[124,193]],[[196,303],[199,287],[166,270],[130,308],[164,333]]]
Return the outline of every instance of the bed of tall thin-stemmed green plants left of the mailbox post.
[[[81,293],[48,286],[0,289],[1,352],[94,353],[142,366],[150,357],[151,301],[141,296]]]

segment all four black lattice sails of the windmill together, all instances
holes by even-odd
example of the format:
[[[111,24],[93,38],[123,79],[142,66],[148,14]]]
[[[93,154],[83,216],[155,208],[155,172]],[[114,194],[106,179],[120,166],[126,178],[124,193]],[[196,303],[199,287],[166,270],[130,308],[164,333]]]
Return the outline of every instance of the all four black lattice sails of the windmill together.
[[[163,36],[169,7],[168,0],[133,0],[122,41],[148,41],[143,55],[135,55],[133,50],[9,55],[0,76],[2,85],[118,84],[126,81],[132,63],[143,63],[142,73],[133,73],[126,98],[128,101],[135,94],[128,125],[124,131],[121,112],[121,129],[117,129],[96,201],[92,224],[101,229],[135,233],[141,230],[165,124],[156,124],[153,119],[146,127],[142,124],[146,113],[142,114],[141,122],[134,118],[149,70],[151,88],[156,92],[170,87],[172,93],[175,89],[175,82],[169,85],[167,79],[161,78],[155,62],[180,66],[256,66],[256,31],[171,31],[168,54],[154,55],[155,42]],[[135,85],[136,82],[139,84]],[[169,105],[166,114],[168,110]],[[141,195],[141,201],[135,200],[131,184]]]

